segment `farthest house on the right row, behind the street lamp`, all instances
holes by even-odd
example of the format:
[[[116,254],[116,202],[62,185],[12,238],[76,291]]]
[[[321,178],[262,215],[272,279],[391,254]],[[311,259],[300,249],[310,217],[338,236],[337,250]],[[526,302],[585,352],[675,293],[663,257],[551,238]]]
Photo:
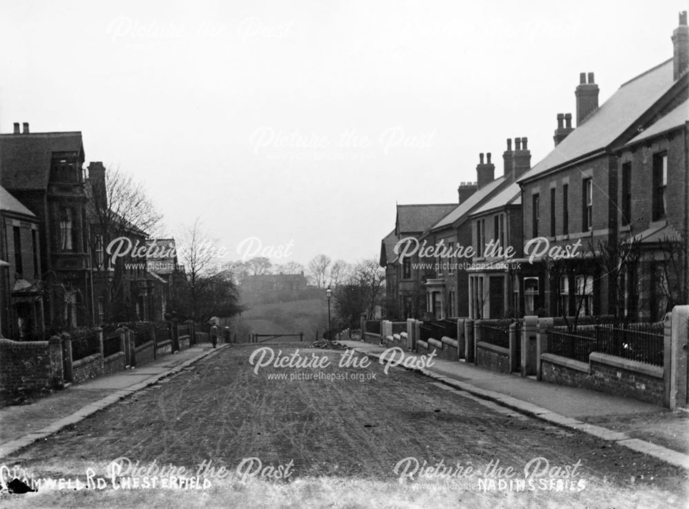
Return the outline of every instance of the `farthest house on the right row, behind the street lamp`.
[[[388,318],[418,318],[426,312],[423,284],[426,269],[419,266],[418,253],[409,250],[409,256],[395,253],[395,245],[403,239],[420,242],[424,231],[457,207],[456,203],[425,205],[398,205],[395,229],[381,242],[380,264],[386,275],[393,274],[395,288],[386,287],[386,295],[393,295],[386,306]]]

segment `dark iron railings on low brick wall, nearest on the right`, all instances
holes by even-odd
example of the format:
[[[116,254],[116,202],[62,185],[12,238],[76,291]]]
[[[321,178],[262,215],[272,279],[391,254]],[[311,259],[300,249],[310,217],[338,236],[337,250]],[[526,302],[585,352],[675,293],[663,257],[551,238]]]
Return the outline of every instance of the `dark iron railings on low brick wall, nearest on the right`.
[[[566,331],[553,327],[546,331],[548,351],[580,362],[591,353],[607,353],[627,360],[663,366],[663,322],[653,324],[599,324]]]

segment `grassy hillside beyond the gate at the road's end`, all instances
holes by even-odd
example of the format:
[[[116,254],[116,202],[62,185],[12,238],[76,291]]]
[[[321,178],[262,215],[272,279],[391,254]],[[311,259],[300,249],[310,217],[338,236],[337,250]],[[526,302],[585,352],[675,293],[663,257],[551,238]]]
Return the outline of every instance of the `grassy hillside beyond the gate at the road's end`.
[[[305,341],[322,335],[328,324],[325,298],[249,304],[249,309],[233,320],[232,329],[240,336],[255,334],[304,333]]]

